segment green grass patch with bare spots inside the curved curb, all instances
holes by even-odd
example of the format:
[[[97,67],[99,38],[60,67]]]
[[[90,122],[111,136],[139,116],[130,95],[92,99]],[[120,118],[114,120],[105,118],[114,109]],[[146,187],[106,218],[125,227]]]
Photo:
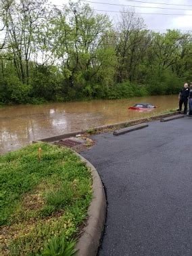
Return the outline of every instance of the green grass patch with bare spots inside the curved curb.
[[[70,251],[87,217],[91,185],[67,148],[38,143],[0,156],[0,255],[72,255],[61,250]]]

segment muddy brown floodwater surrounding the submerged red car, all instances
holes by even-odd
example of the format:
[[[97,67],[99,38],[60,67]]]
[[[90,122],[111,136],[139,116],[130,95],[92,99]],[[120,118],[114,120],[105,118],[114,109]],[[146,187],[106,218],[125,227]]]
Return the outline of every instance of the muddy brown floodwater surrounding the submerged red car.
[[[128,110],[139,102],[158,107],[150,112]],[[177,95],[6,106],[0,108],[0,154],[43,137],[153,116],[177,106]]]

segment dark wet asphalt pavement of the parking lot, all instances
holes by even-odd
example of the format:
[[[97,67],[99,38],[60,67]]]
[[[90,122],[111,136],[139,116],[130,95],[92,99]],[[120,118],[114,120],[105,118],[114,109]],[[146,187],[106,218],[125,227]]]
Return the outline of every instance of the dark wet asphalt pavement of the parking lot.
[[[114,136],[81,152],[107,194],[99,255],[192,255],[192,118]]]

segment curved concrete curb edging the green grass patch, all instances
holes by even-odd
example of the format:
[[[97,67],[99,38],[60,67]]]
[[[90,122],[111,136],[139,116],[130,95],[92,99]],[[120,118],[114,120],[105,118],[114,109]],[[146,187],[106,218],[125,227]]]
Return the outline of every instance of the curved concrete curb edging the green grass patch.
[[[93,199],[88,209],[87,225],[82,230],[82,235],[76,244],[78,256],[97,255],[99,240],[103,231],[106,214],[106,198],[101,178],[97,170],[87,159],[74,152],[91,169],[93,178]]]

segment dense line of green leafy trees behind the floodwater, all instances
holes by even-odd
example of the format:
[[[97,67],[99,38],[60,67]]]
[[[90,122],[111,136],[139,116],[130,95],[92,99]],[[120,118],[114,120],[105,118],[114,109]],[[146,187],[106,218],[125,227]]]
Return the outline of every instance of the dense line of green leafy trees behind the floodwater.
[[[0,0],[0,102],[177,93],[192,80],[192,37],[154,33],[130,9],[116,24],[89,5]]]

